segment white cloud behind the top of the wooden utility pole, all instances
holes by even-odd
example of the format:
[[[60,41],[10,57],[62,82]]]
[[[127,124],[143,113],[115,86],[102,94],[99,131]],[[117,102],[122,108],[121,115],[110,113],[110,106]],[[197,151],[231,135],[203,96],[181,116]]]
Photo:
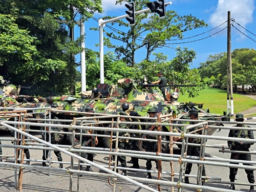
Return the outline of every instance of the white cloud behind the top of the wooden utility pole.
[[[245,27],[253,20],[252,13],[254,8],[254,0],[219,0],[217,8],[210,15],[208,23],[213,27],[219,26],[227,20],[227,12],[230,11],[231,18],[234,18],[237,23]],[[238,25],[235,26],[240,31],[245,31]]]

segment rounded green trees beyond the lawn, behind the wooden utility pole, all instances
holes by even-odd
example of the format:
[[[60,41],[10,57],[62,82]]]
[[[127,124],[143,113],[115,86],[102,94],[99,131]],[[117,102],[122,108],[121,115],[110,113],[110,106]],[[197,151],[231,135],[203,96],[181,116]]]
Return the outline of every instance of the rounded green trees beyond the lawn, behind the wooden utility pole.
[[[250,84],[256,85],[256,50],[236,49],[232,54],[232,83],[233,86]],[[226,87],[227,84],[227,54],[210,55],[206,62],[200,63],[199,72],[202,78],[215,78],[214,85]]]

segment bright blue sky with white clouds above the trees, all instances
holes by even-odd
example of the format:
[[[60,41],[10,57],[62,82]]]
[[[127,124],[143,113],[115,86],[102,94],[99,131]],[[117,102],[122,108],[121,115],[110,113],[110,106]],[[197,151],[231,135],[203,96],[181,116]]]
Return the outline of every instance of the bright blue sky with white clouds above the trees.
[[[151,1],[153,2],[153,0]],[[125,5],[115,5],[116,0],[102,0],[101,2],[104,12],[95,13],[94,17],[97,19],[103,16],[122,16],[126,14],[125,11],[127,8]],[[191,14],[198,19],[204,20],[204,22],[208,24],[206,28],[194,29],[183,33],[183,38],[198,35],[196,37],[178,41],[168,41],[184,42],[179,45],[171,45],[172,48],[176,48],[177,46],[181,48],[187,47],[189,50],[192,49],[197,52],[197,58],[191,63],[191,69],[198,68],[200,66],[199,64],[205,62],[209,55],[227,52],[227,29],[224,29],[227,27],[227,23],[223,23],[227,21],[228,11],[230,11],[231,18],[234,19],[234,22],[232,22],[234,27],[231,28],[231,50],[233,51],[239,48],[256,49],[256,4],[254,0],[166,0],[166,3],[167,2],[172,2],[172,5],[168,5],[166,11],[174,10],[182,16]],[[123,20],[127,22],[125,18]],[[98,27],[98,22],[91,18],[84,24],[86,28],[86,48],[99,51],[99,47],[95,46],[99,44],[99,32],[90,30],[92,27]],[[112,27],[123,32],[129,30],[129,28],[121,28],[118,25]],[[105,27],[104,29],[111,32],[109,28]],[[79,27],[75,28],[75,35],[79,36]],[[112,43],[121,45],[120,41],[114,39],[112,39]],[[106,51],[114,51],[114,49],[104,47],[104,53]],[[170,48],[160,48],[155,52],[168,55],[169,60],[172,60],[176,56],[175,50]],[[135,53],[135,62],[140,62],[145,57],[145,50],[141,50]],[[79,55],[76,56],[76,58],[77,61],[80,61]],[[154,59],[154,57],[152,56],[151,59]]]

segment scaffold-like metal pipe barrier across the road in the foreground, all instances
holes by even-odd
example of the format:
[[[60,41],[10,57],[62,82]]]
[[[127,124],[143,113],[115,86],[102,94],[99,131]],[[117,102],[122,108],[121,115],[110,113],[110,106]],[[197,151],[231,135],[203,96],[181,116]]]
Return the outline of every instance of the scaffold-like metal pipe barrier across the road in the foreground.
[[[72,183],[73,183],[73,174],[78,175],[78,185],[77,185],[77,191],[79,190],[79,174],[83,175],[90,175],[90,176],[100,176],[100,177],[108,177],[109,183],[113,186],[113,191],[116,189],[116,181],[117,179],[122,179],[126,180],[127,182],[131,182],[135,185],[138,185],[142,188],[147,189],[148,191],[161,191],[161,184],[166,184],[168,186],[172,187],[172,191],[174,191],[174,188],[178,188],[178,191],[183,191],[186,188],[193,188],[196,189],[197,191],[202,191],[203,189],[210,190],[210,191],[232,191],[229,189],[223,189],[223,188],[216,188],[216,187],[210,187],[210,186],[202,186],[201,181],[202,179],[208,180],[212,183],[222,183],[222,184],[236,184],[236,185],[250,185],[250,186],[256,186],[255,184],[249,184],[249,183],[233,183],[233,182],[228,182],[228,181],[221,181],[221,178],[216,178],[216,177],[208,177],[208,176],[202,176],[202,164],[204,165],[213,165],[213,166],[223,166],[223,167],[234,167],[234,168],[242,168],[242,169],[256,169],[254,166],[247,166],[247,165],[240,165],[240,164],[229,164],[231,163],[251,163],[251,164],[256,164],[255,161],[242,161],[242,160],[230,160],[230,159],[217,159],[217,158],[210,158],[210,157],[205,157],[205,148],[219,148],[219,151],[222,153],[231,153],[230,150],[228,150],[228,147],[224,146],[214,146],[214,145],[207,145],[206,140],[207,139],[215,139],[215,140],[224,140],[224,141],[240,141],[240,142],[246,142],[250,141],[255,143],[256,139],[246,139],[246,138],[230,138],[230,137],[222,137],[222,136],[214,136],[214,135],[207,135],[207,130],[208,129],[220,129],[220,126],[213,126],[209,125],[208,123],[218,123],[219,121],[202,121],[202,120],[180,120],[180,119],[172,119],[172,114],[166,115],[166,116],[158,116],[157,117],[157,122],[154,123],[149,123],[149,122],[125,122],[125,124],[141,124],[141,125],[156,125],[158,127],[158,131],[154,132],[154,134],[158,135],[157,139],[143,139],[143,138],[132,138],[133,140],[140,140],[140,141],[152,141],[152,142],[157,142],[158,143],[158,152],[157,153],[151,153],[151,152],[140,152],[140,151],[131,151],[131,150],[119,150],[117,148],[118,144],[118,138],[121,139],[131,139],[129,137],[118,137],[118,136],[113,136],[112,134],[109,135],[97,135],[97,134],[82,134],[79,133],[80,135],[80,144],[75,146],[75,130],[79,129],[90,129],[90,130],[96,130],[96,131],[110,131],[110,132],[119,132],[123,131],[123,129],[119,128],[113,128],[114,123],[121,124],[122,122],[119,121],[120,117],[127,117],[127,116],[120,116],[120,115],[106,115],[106,114],[94,114],[94,117],[81,117],[81,118],[73,118],[73,120],[55,120],[51,119],[51,112],[62,112],[61,110],[54,110],[54,109],[49,109],[49,108],[44,108],[44,110],[49,110],[49,119],[34,119],[34,118],[29,118],[29,116],[26,113],[26,110],[20,110],[16,111],[16,113],[11,112],[8,114],[8,112],[5,112],[8,114],[8,117],[13,115],[14,121],[0,121],[1,127],[4,127],[3,129],[8,129],[14,131],[14,139],[7,139],[7,138],[0,138],[0,140],[10,140],[14,142],[14,145],[8,145],[8,144],[2,144],[0,145],[1,147],[11,147],[15,148],[15,153],[13,156],[5,156],[1,155],[1,157],[6,158],[6,160],[14,158],[15,163],[9,163],[9,162],[0,162],[1,166],[13,166],[14,167],[14,173],[15,173],[15,188],[17,190],[22,190],[22,181],[23,181],[23,168],[28,168],[28,169],[33,169],[33,170],[47,170],[49,171],[49,175],[51,175],[51,172],[61,172],[61,173],[68,173],[70,174],[70,186],[69,189],[72,191]],[[63,111],[66,112],[66,111]],[[1,112],[4,114],[3,112]],[[86,115],[88,113],[86,112],[76,112],[81,113],[83,115]],[[28,121],[38,121],[38,122],[23,122],[23,118],[27,118]],[[105,118],[110,118],[112,121],[106,121],[104,120]],[[133,117],[130,117],[133,118]],[[136,117],[137,118],[137,117]],[[140,119],[156,119],[156,118],[149,118],[149,117],[139,117]],[[93,120],[97,119],[97,120]],[[101,120],[103,119],[103,120]],[[49,121],[58,121],[66,124],[51,124]],[[167,122],[166,122],[167,121]],[[197,122],[196,124],[177,124],[174,122],[177,121],[187,121],[187,122]],[[42,123],[45,122],[45,123]],[[77,123],[80,122],[81,125],[77,125]],[[222,121],[221,121],[222,122]],[[102,127],[102,126],[89,126],[91,124],[112,124],[112,127]],[[256,124],[256,123],[248,123],[248,122],[222,122],[222,123],[227,123],[227,124]],[[13,126],[14,125],[14,126]],[[26,125],[29,126],[42,126],[45,127],[44,131],[40,130],[26,130]],[[53,132],[51,131],[51,127],[61,127],[61,128],[66,128],[69,130],[69,132]],[[161,132],[161,126],[169,126],[170,127],[170,132]],[[49,131],[47,131],[46,127],[49,127]],[[183,128],[181,133],[174,133],[173,128],[174,127],[179,127],[180,130],[181,127]],[[187,130],[193,129],[194,127],[198,127],[197,132],[202,131],[202,135],[198,134],[193,134],[194,132],[187,133]],[[241,127],[233,127],[233,126],[221,126],[221,129],[241,129]],[[248,128],[246,127],[246,130],[249,131],[255,131],[256,128]],[[71,145],[55,145],[52,144],[51,141],[46,142],[42,139],[39,139],[29,133],[26,133],[25,131],[28,132],[36,132],[36,133],[45,133],[51,134],[53,133],[61,133],[61,134],[68,134],[70,135],[71,138]],[[152,131],[146,131],[146,130],[125,130],[125,132],[128,133],[139,133],[139,134],[151,134]],[[22,139],[19,138],[19,134],[22,135]],[[100,148],[100,147],[82,147],[81,146],[81,136],[98,136],[98,137],[105,137],[106,139],[110,138],[110,141],[116,141],[116,146],[115,149],[112,148]],[[118,135],[118,134],[117,134]],[[165,135],[169,137],[169,141],[163,141],[161,139],[161,136]],[[30,138],[30,139],[25,139],[25,136]],[[181,142],[175,142],[173,141],[173,137],[181,137],[182,141]],[[196,144],[196,143],[189,143],[188,138],[201,138],[201,143]],[[18,141],[22,142],[22,145],[18,145]],[[161,153],[161,143],[166,142],[169,144],[170,152],[169,154],[163,154]],[[181,155],[175,155],[173,154],[173,144],[179,144],[181,145]],[[195,156],[188,156],[187,155],[187,147],[188,145],[193,145],[193,146],[200,146],[200,155],[199,157]],[[33,149],[33,150],[49,150],[50,152],[52,150],[58,150],[61,153],[67,154],[71,157],[70,161],[63,161],[61,163],[63,164],[70,164],[70,169],[59,169],[59,168],[54,168],[51,167],[51,163],[60,163],[58,161],[52,161],[51,160],[51,153],[49,153],[49,160],[37,160],[37,159],[24,159],[24,149]],[[22,153],[20,155],[20,161],[22,164],[17,163],[17,151],[19,149],[22,149]],[[256,154],[256,152],[237,152],[237,151],[232,151],[236,153],[250,153],[252,155]],[[77,155],[77,153],[90,153],[90,154],[104,154],[104,155],[109,155],[110,156],[110,162],[106,163],[106,165],[99,165],[97,163],[91,162],[87,159],[84,159]],[[115,156],[115,160],[111,162],[111,156]],[[143,158],[143,159],[157,159],[158,160],[158,171],[154,170],[144,170],[144,169],[134,169],[134,168],[127,168],[127,167],[118,167],[120,170],[136,170],[138,172],[144,172],[144,173],[157,173],[158,174],[158,179],[145,179],[145,178],[135,178],[135,177],[129,177],[129,176],[122,176],[120,174],[116,173],[116,168],[117,168],[117,156],[126,156],[126,157],[138,157],[138,158]],[[74,158],[78,159],[78,163],[74,163]],[[161,161],[169,161],[170,166],[171,166],[171,171],[170,172],[164,172],[162,170],[161,166]],[[49,167],[41,167],[41,166],[36,166],[36,165],[26,165],[23,164],[24,161],[32,161],[32,162],[49,162],[50,166]],[[101,170],[104,170],[105,173],[95,173],[95,172],[86,172],[82,170],[76,170],[74,169],[74,165],[78,164],[78,167],[80,165],[80,161],[84,161],[86,163],[81,164],[81,165],[91,165],[95,166]],[[180,164],[180,171],[179,173],[174,173],[174,162]],[[195,164],[200,164],[198,166],[198,173],[197,175],[185,175],[185,167],[186,163],[195,163]],[[111,164],[114,164],[114,166],[111,166]],[[112,168],[114,168],[114,171],[112,171]],[[17,170],[19,169],[19,176],[17,177]],[[163,181],[161,180],[162,174],[166,174],[170,176],[171,181]],[[178,182],[174,182],[174,177],[178,176]],[[197,178],[197,184],[198,185],[193,185],[193,184],[185,184],[184,183],[184,177],[194,177]],[[112,178],[113,184],[110,182],[110,178]],[[155,183],[158,186],[158,190],[146,186],[142,184],[141,182],[146,182],[146,183]]]

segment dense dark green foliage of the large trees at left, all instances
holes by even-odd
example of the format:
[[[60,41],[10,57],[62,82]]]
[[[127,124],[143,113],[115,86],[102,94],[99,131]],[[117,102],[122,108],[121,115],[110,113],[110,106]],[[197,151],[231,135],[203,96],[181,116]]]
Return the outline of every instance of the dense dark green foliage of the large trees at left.
[[[16,20],[0,18],[0,39],[5,45],[0,48],[1,75],[14,84],[32,87],[22,90],[23,94],[68,94],[75,86],[79,65],[73,58],[82,51],[84,37],[73,40],[67,25],[56,19],[65,18],[72,28],[74,20],[102,12],[100,6],[100,0],[0,1],[0,13],[17,16]]]

